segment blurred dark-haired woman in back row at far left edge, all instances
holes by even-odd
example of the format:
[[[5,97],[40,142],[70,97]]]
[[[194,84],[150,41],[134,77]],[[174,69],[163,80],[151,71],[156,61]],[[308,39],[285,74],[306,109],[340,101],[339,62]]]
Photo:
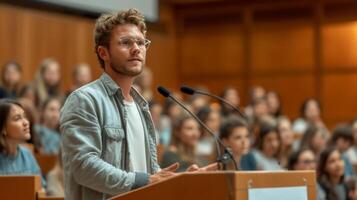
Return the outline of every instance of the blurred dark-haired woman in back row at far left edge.
[[[16,99],[20,90],[21,66],[10,61],[4,65],[1,72],[0,99]]]

